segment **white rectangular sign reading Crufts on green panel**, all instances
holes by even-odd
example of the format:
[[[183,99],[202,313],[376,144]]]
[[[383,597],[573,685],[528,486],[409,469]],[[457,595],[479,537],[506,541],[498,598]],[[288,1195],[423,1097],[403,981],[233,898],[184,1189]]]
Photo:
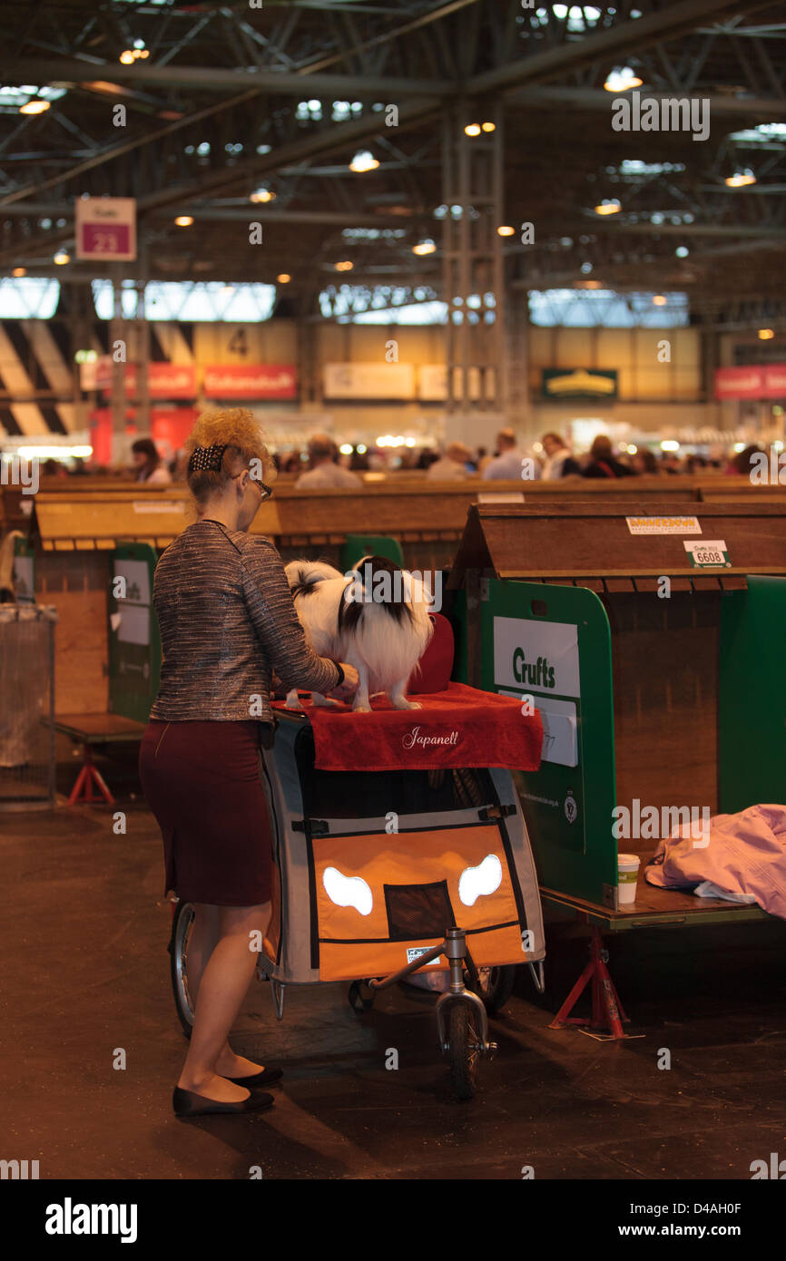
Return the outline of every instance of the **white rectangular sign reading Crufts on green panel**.
[[[495,618],[495,683],[541,696],[580,696],[578,628]]]

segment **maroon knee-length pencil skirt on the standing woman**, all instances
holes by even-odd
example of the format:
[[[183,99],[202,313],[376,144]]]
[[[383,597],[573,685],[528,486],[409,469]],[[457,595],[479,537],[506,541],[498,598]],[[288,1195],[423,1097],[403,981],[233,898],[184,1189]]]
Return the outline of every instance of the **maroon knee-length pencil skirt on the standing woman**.
[[[259,723],[151,720],[139,774],[164,840],[164,893],[216,907],[270,899],[271,830]]]

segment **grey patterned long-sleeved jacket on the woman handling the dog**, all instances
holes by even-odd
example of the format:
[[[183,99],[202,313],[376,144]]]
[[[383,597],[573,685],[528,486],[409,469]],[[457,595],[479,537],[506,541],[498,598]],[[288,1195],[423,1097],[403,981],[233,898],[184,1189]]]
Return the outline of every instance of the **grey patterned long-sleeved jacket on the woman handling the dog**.
[[[333,662],[305,641],[267,538],[194,522],[159,560],[153,603],[164,660],[151,719],[271,723],[274,670],[286,690],[338,683]]]

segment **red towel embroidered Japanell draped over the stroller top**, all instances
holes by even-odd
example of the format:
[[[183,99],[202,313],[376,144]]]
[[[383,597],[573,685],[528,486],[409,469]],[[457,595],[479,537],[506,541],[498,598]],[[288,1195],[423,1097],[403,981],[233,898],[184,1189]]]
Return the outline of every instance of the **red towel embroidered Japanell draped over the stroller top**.
[[[371,714],[314,707],[302,697],[314,729],[318,770],[431,770],[439,767],[506,767],[537,770],[540,714],[521,714],[511,696],[450,683],[418,696],[419,710],[395,710],[375,696]],[[283,702],[276,701],[275,707]]]

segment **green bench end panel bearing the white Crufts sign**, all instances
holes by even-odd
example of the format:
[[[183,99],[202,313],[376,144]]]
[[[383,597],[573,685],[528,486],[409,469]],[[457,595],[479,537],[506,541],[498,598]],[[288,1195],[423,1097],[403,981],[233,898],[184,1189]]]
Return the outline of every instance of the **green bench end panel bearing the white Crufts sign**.
[[[541,885],[614,904],[617,854],[609,622],[580,586],[491,579],[481,599],[481,686],[531,697],[540,769],[517,773]]]

